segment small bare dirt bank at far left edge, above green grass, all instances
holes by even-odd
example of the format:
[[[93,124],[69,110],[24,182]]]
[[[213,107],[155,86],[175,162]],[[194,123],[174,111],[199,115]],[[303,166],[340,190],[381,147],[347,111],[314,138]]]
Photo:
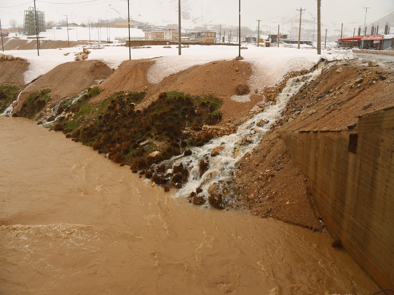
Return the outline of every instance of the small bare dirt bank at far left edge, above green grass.
[[[26,59],[0,60],[0,85],[22,88],[25,85],[23,73],[29,68]]]

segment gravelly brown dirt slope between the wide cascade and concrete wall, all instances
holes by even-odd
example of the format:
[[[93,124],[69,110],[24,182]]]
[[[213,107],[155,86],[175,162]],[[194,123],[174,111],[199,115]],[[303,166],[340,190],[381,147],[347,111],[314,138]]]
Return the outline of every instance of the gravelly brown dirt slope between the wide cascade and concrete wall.
[[[316,230],[324,228],[308,193],[307,180],[291,159],[280,134],[295,130],[347,130],[357,117],[393,106],[393,66],[361,63],[333,63],[290,99],[277,126],[251,155],[239,162],[233,188],[241,204],[253,214]]]

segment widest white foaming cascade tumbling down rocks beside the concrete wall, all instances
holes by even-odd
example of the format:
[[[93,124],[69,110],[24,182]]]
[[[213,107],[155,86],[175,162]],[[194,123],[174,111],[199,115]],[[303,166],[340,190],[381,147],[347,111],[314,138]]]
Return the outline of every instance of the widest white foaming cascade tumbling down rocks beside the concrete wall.
[[[289,79],[286,87],[276,97],[276,102],[271,102],[263,112],[241,124],[235,134],[214,138],[202,147],[192,148],[190,156],[173,157],[162,162],[166,167],[182,163],[189,170],[188,182],[177,191],[176,196],[187,196],[199,187],[202,189],[199,194],[208,197],[207,190],[211,184],[228,181],[232,176],[235,163],[260,143],[265,133],[281,117],[289,98],[296,94],[305,83],[315,80],[320,73],[321,68]],[[224,148],[219,155],[212,157],[212,149],[218,146]],[[209,167],[200,177],[198,163],[201,160],[207,160]]]

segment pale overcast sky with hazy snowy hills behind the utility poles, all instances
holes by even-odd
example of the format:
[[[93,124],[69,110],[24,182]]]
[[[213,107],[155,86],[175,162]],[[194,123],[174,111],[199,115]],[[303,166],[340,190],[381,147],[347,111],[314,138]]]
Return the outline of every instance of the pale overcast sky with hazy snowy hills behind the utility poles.
[[[9,27],[9,21],[15,19],[23,24],[24,11],[33,6],[28,0],[0,0],[0,20],[2,27]],[[80,24],[90,20],[127,17],[127,0],[36,0],[37,10],[44,11],[45,20],[58,22],[66,19]],[[196,25],[221,24],[224,28],[238,24],[238,0],[181,0],[182,27],[193,28]],[[290,28],[298,22],[302,12],[304,26],[313,26],[317,15],[316,0],[241,0],[241,26],[274,30],[277,26]],[[365,9],[366,23],[370,24],[394,11],[394,0],[322,0],[322,29],[344,28],[351,30],[363,26]],[[178,0],[130,0],[131,19],[146,21],[157,26],[178,22]],[[381,27],[384,24],[380,24]]]

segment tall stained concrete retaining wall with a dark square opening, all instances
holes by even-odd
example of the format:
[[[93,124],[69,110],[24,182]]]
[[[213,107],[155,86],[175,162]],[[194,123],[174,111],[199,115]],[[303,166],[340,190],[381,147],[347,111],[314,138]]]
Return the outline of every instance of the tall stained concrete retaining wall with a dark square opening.
[[[328,231],[382,287],[394,289],[394,108],[357,129],[286,132]]]

